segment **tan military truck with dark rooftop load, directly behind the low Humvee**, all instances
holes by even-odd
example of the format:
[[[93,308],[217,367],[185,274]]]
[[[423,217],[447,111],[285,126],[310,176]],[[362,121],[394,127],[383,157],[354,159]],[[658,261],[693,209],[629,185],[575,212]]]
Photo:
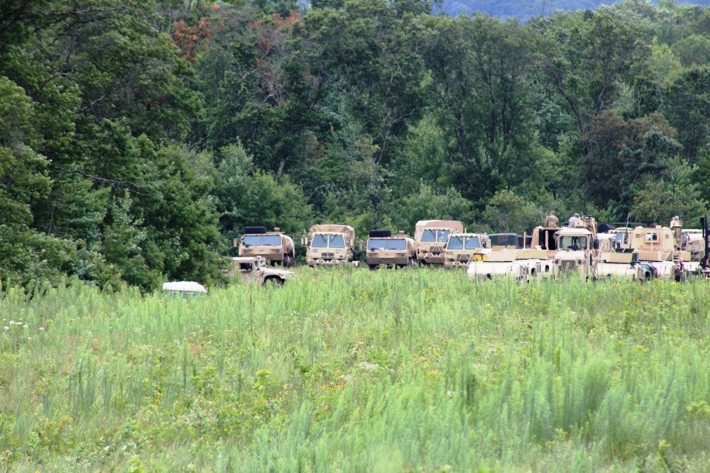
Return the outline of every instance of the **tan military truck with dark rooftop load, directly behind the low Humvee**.
[[[278,227],[273,232],[267,232],[266,227],[246,227],[241,238],[234,238],[234,247],[239,247],[239,256],[262,256],[267,265],[293,266],[293,238]]]

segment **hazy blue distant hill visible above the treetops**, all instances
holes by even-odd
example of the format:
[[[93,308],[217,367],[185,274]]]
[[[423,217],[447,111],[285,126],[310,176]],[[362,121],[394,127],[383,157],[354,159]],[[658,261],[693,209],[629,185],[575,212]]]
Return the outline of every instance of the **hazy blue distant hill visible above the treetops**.
[[[622,0],[623,1],[623,0]],[[640,3],[643,0],[635,0]],[[526,20],[531,16],[544,13],[549,16],[556,10],[576,11],[591,9],[594,10],[601,5],[611,5],[621,3],[613,0],[444,0],[440,9],[450,16],[459,16],[461,13],[470,15],[475,11],[486,13],[489,16],[500,16],[501,18],[520,18]],[[632,1],[633,3],[633,1]],[[653,1],[656,5],[658,2]],[[699,1],[678,1],[678,5],[702,5],[709,6],[710,0]],[[435,8],[436,10],[436,8]]]

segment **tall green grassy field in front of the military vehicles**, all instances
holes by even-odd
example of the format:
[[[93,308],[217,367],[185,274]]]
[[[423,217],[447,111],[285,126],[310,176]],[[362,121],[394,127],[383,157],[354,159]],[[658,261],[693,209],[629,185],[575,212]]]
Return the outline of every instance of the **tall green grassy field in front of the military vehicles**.
[[[708,282],[0,298],[0,472],[710,471]]]

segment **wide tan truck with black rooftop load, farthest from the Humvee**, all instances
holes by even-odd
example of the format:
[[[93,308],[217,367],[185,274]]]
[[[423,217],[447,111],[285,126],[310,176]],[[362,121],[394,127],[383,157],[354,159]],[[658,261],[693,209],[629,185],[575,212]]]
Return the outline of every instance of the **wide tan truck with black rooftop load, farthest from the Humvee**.
[[[390,230],[370,230],[366,246],[367,266],[413,266],[417,262],[417,243],[403,231],[392,235]]]

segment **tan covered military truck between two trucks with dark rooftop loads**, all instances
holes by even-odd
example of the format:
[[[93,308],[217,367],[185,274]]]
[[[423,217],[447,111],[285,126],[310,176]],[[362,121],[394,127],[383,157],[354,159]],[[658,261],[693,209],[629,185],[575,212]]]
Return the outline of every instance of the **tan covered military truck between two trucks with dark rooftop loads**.
[[[314,225],[301,237],[308,266],[359,265],[353,262],[355,229],[348,225]]]

